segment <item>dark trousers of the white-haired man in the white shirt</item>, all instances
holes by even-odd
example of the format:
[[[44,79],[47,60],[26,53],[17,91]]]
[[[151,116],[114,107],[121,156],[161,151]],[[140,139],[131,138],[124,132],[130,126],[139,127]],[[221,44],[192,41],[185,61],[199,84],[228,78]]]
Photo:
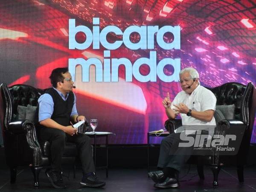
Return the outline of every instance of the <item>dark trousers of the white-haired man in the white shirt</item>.
[[[180,171],[191,156],[193,147],[178,147],[179,143],[180,133],[170,134],[162,140],[157,167],[171,167]]]

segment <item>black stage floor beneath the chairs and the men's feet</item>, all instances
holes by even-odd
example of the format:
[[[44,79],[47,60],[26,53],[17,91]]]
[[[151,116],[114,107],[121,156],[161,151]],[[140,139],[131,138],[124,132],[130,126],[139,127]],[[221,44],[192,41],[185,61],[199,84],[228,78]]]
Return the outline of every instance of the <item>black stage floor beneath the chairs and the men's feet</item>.
[[[24,167],[18,171],[17,181],[15,184],[10,184],[9,170],[7,167],[0,169],[0,192],[51,192],[51,191],[86,191],[86,192],[148,192],[148,191],[179,191],[179,192],[256,192],[256,166],[245,167],[245,182],[239,184],[236,177],[236,169],[234,167],[224,167],[219,173],[219,187],[212,188],[212,173],[211,170],[205,168],[205,180],[200,182],[196,173],[195,165],[186,165],[183,172],[180,174],[180,187],[177,189],[155,189],[154,182],[147,177],[146,169],[110,169],[109,177],[105,177],[104,170],[98,170],[97,176],[106,181],[106,186],[101,189],[81,188],[79,182],[81,173],[77,171],[76,179],[73,178],[72,170],[65,168],[64,177],[68,183],[67,189],[53,189],[44,175],[44,171],[40,174],[40,189],[33,188],[32,172],[29,168]],[[189,173],[187,174],[189,170]],[[185,175],[185,176],[184,176]],[[184,177],[183,177],[184,176]]]

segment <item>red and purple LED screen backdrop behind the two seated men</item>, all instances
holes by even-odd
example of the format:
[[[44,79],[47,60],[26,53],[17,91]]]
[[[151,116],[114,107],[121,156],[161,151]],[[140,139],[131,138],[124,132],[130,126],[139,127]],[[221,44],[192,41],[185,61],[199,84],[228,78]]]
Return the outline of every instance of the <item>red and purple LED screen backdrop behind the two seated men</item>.
[[[130,26],[158,26],[159,29],[178,26],[180,37],[166,32],[162,40],[166,44],[180,40],[180,49],[163,49],[154,32],[151,41],[140,37],[138,32],[131,32],[129,37],[113,32],[106,36],[109,43],[123,38],[133,44],[148,40],[146,43],[154,44],[151,49],[130,49],[125,44],[109,52],[104,52],[109,49],[101,44],[99,49],[93,49],[92,45],[81,50],[70,49],[69,19],[75,19],[76,26],[93,30],[93,17],[99,18],[100,31],[107,26],[116,26],[122,32]],[[152,31],[145,34],[150,33]],[[75,38],[82,44],[89,36],[78,32]],[[232,81],[256,84],[256,1],[0,1],[0,82],[9,86],[22,83],[42,89],[50,87],[48,77],[52,69],[68,67],[70,58],[97,58],[102,68],[107,64],[103,62],[106,58],[126,58],[125,61],[134,64],[140,58],[149,58],[153,52],[156,65],[165,58],[180,58],[180,62],[162,69],[162,76],[173,77],[171,82],[163,81],[158,74],[153,74],[155,81],[148,81],[146,77],[153,69],[147,64],[138,69],[146,82],[136,78],[135,70],[129,66],[120,65],[106,76],[102,74],[104,70],[94,65],[88,73],[83,73],[81,65],[76,67],[74,92],[78,111],[87,119],[98,119],[96,131],[116,133],[110,138],[112,144],[146,143],[148,131],[163,128],[166,115],[161,102],[167,92],[173,99],[180,91],[175,75],[179,67],[195,67],[200,73],[201,84],[207,87]],[[104,82],[113,70],[118,72],[117,82]],[[96,73],[101,73],[102,82],[96,81]],[[128,76],[130,80],[126,79]],[[89,82],[82,81],[86,77]],[[256,143],[255,134],[252,143]]]

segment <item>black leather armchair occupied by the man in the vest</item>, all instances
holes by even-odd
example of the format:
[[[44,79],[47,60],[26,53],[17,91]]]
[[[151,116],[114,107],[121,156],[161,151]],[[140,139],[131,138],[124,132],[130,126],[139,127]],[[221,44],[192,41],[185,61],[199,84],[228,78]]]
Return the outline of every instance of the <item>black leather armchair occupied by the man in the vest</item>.
[[[16,181],[17,166],[30,166],[34,175],[34,186],[39,188],[38,176],[43,166],[49,165],[49,142],[39,143],[37,122],[27,119],[14,120],[17,115],[17,106],[37,106],[39,96],[44,90],[35,87],[17,84],[7,87],[0,85],[0,121],[3,129],[3,140],[6,162],[10,167],[11,183]],[[79,127],[79,133],[88,130],[89,123]],[[76,145],[66,143],[62,162],[73,162],[75,175]]]

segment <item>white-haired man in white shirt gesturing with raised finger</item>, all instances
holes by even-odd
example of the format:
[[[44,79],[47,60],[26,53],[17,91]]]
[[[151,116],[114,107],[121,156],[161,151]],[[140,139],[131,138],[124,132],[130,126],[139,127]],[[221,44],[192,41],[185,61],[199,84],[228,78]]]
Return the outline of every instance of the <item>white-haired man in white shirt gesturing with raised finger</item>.
[[[215,95],[199,82],[199,74],[194,68],[188,67],[180,71],[180,86],[183,91],[175,96],[173,102],[169,93],[163,99],[163,106],[169,119],[175,119],[180,113],[182,125],[216,125],[214,111]],[[178,133],[179,132],[179,133]],[[178,173],[181,166],[189,159],[192,147],[178,148],[180,132],[165,137],[160,145],[157,167],[159,171],[149,172],[154,180],[154,187],[178,187]],[[187,155],[184,155],[187,154]]]

